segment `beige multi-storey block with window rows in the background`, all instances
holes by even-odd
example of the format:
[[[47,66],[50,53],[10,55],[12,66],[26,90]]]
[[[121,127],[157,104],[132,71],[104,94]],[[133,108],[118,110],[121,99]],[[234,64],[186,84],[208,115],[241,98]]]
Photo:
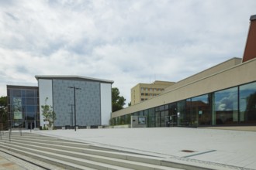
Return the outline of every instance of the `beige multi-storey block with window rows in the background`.
[[[153,83],[138,83],[130,91],[131,105],[139,104],[141,101],[156,97],[164,92],[166,87],[175,84],[169,81],[154,81]]]

